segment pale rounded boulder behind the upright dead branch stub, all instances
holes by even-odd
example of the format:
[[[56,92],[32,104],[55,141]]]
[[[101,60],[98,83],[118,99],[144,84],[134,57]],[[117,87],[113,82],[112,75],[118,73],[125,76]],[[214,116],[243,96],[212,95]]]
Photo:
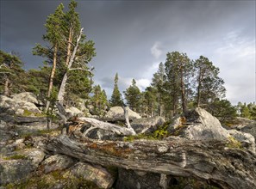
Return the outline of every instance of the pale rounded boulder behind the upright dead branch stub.
[[[140,115],[128,108],[129,119],[140,119]],[[121,119],[124,120],[124,112],[122,107],[111,107],[109,112],[106,114],[106,118],[109,119]]]

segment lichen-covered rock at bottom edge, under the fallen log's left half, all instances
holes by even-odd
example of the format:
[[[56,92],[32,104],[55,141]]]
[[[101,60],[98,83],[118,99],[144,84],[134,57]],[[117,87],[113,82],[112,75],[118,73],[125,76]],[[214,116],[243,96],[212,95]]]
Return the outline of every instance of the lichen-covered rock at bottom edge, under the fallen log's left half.
[[[68,177],[70,174],[78,178],[83,178],[84,180],[92,181],[100,188],[110,188],[115,181],[114,177],[105,168],[91,166],[85,162],[75,164],[65,176]]]

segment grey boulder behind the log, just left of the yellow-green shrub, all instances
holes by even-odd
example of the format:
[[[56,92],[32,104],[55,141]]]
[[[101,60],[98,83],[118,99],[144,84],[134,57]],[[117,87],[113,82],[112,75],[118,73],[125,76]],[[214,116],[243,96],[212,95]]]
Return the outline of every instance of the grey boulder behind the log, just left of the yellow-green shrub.
[[[159,125],[163,125],[165,119],[159,116],[147,119],[134,119],[131,126],[137,134],[155,131]]]

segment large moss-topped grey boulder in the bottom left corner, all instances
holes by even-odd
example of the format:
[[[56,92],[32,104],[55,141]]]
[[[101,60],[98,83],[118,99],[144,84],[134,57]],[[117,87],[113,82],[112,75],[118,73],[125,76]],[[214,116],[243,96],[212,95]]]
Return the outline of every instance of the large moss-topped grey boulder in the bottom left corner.
[[[26,178],[36,170],[44,156],[40,149],[29,149],[0,160],[0,186]]]

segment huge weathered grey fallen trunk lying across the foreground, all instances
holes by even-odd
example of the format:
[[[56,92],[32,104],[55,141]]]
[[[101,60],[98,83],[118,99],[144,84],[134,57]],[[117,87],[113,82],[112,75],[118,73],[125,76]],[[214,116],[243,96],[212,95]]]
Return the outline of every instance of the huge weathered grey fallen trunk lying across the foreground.
[[[225,142],[190,141],[97,141],[76,135],[53,137],[42,149],[70,155],[103,166],[208,180],[222,188],[256,188],[256,155],[229,149]]]

